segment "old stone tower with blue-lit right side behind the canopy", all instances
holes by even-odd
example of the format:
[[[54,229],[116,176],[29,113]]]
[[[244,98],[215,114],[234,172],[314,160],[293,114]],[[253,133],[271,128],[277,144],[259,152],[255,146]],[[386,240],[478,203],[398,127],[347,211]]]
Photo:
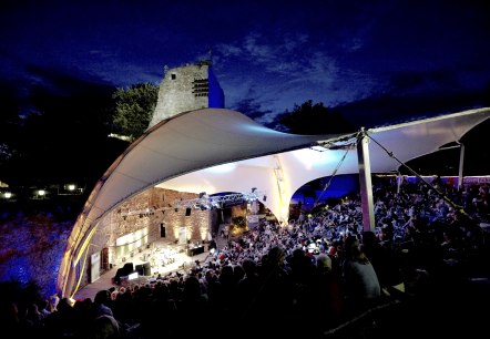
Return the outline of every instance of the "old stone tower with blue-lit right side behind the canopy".
[[[207,107],[224,109],[224,105],[225,95],[210,61],[165,69],[149,129],[182,112]]]

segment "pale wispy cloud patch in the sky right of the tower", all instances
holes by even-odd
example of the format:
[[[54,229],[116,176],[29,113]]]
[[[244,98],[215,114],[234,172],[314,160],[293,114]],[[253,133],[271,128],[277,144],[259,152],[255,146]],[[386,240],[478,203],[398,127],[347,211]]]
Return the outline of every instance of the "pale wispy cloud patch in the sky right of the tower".
[[[218,44],[214,64],[232,106],[252,100],[272,115],[307,100],[327,105],[358,100],[375,86],[364,74],[341,70],[337,58],[313,47],[305,33],[270,38],[252,32],[232,44]],[[346,75],[363,85],[349,85]]]

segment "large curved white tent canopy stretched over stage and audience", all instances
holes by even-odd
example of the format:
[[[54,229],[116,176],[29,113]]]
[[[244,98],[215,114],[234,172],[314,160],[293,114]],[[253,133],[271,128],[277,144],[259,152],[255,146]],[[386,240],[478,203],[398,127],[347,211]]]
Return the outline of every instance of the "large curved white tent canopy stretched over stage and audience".
[[[487,120],[490,109],[471,110],[409,123],[367,130],[401,162],[459,141]],[[85,203],[69,238],[59,274],[59,288],[70,290],[69,276],[101,218],[123,201],[159,186],[208,195],[221,192],[264,192],[264,204],[278,220],[287,220],[293,194],[305,183],[359,172],[351,135],[293,135],[266,129],[225,109],[178,114],[153,126],[111,165]],[[370,171],[388,173],[399,163],[377,143],[369,143]],[[318,151],[313,146],[324,145]],[[347,153],[347,154],[346,154]]]

